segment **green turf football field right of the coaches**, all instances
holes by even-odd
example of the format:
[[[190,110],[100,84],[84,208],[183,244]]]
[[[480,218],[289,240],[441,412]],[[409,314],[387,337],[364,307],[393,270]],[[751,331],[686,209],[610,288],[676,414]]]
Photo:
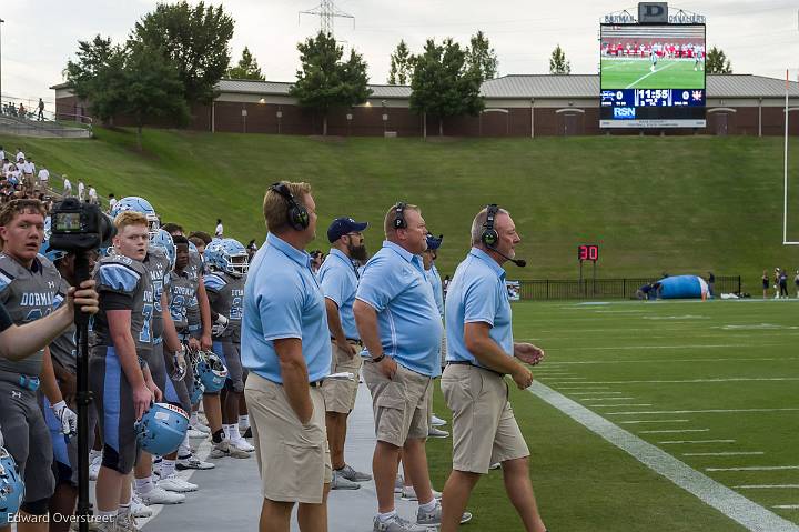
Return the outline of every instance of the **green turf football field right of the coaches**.
[[[549,530],[799,530],[797,304],[516,303],[516,340],[547,352],[537,383],[510,395]],[[448,415],[439,393],[435,411]],[[641,463],[641,449],[660,472]],[[437,489],[451,451],[452,439],[427,444]],[[477,484],[469,510],[473,530],[522,530],[499,471]]]

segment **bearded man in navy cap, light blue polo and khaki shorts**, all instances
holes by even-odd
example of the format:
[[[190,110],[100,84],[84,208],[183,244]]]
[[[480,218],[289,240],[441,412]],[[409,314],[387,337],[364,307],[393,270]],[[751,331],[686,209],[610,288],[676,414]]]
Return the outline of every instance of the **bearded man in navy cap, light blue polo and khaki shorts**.
[[[328,379],[322,384],[325,399],[325,422],[327,424],[327,442],[331,449],[333,480],[331,490],[357,490],[358,482],[372,480],[372,475],[355,471],[344,461],[346,443],[346,421],[355,406],[361,357],[363,347],[355,328],[352,305],[355,302],[358,273],[353,261],[366,259],[366,247],[362,231],[368,224],[356,222],[352,218],[336,218],[327,229],[331,251],[317,272],[322,293],[325,297],[327,325],[333,361],[331,373],[348,372],[352,380]]]

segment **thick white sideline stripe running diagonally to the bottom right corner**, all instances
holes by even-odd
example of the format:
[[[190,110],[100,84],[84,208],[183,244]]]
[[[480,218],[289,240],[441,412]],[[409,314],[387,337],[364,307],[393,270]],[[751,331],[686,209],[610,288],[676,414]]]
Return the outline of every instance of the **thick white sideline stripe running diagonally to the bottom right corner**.
[[[719,484],[685,462],[645,442],[552,388],[540,382],[534,382],[527,390],[748,530],[754,532],[799,532],[799,525]]]

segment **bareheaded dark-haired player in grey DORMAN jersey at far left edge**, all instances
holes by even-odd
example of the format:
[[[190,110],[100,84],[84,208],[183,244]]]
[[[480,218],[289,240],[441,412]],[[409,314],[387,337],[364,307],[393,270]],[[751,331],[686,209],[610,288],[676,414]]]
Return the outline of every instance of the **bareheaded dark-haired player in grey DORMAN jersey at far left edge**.
[[[38,200],[12,200],[0,211],[0,302],[16,324],[29,323],[63,301],[61,277],[45,257],[39,254],[44,237],[44,208]],[[50,431],[37,401],[41,384],[63,434],[77,431],[78,416],[67,406],[55,382],[50,350],[44,348],[19,361],[0,359],[0,426],[6,449],[17,462],[26,483],[20,509],[19,531],[47,530],[47,524],[29,516],[48,513],[55,488],[52,474],[53,450]],[[40,519],[41,521],[41,519]]]

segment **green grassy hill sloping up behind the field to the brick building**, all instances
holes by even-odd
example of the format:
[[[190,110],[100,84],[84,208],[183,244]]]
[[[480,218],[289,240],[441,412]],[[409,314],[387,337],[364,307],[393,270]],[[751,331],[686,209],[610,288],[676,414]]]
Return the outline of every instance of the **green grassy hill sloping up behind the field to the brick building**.
[[[576,247],[601,245],[600,277],[661,271],[741,274],[757,291],[763,269],[799,268],[781,245],[782,139],[583,137],[542,139],[337,139],[97,129],[94,140],[0,137],[41,165],[114,192],[148,198],[166,221],[212,231],[216,218],[240,240],[265,235],[261,200],[277,180],[312,183],[320,212],[314,248],[337,215],[367,220],[370,248],[397,200],[417,203],[445,234],[439,267],[468,247],[474,213],[510,210],[528,260],[517,278],[577,277]],[[793,140],[792,234],[799,240],[799,141]]]

